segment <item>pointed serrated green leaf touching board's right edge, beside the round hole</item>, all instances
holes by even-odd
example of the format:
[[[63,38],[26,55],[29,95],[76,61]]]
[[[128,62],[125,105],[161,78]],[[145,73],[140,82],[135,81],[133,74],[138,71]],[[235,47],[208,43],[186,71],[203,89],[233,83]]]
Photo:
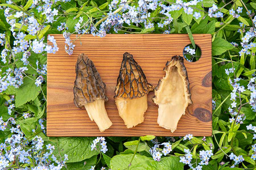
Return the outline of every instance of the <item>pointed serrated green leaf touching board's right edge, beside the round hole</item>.
[[[231,50],[234,48],[232,44],[230,44],[228,41],[216,37],[214,41],[212,42],[212,56],[220,55],[227,50]]]

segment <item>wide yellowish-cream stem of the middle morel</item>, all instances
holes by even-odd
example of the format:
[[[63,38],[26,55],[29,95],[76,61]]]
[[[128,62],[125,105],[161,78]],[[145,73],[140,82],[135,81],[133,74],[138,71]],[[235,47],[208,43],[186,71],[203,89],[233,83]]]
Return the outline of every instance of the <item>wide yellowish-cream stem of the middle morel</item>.
[[[147,94],[134,99],[115,98],[119,116],[127,128],[132,128],[144,121],[144,113],[148,109]]]

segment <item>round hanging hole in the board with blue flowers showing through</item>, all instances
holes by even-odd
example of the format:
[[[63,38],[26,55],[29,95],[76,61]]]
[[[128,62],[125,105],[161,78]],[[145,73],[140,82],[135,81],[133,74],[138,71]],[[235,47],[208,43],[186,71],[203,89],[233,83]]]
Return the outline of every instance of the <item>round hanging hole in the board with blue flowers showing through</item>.
[[[195,62],[201,58],[201,49],[199,46],[195,46],[196,48],[193,48],[192,44],[189,44],[183,50],[183,56],[189,62]]]

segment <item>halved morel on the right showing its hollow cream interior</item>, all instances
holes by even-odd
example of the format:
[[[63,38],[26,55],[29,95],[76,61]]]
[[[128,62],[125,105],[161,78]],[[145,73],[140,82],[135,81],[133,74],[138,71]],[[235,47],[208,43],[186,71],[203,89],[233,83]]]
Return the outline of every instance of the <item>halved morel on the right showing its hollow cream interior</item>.
[[[164,67],[166,75],[159,80],[152,98],[159,106],[157,123],[171,132],[177,129],[187,106],[192,105],[187,70],[183,62],[181,56],[173,56],[171,61],[167,61]]]

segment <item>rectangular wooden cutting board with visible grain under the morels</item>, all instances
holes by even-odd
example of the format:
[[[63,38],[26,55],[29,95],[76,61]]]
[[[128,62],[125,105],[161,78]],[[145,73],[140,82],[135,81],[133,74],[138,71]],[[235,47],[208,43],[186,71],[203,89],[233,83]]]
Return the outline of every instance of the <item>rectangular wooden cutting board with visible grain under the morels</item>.
[[[65,39],[53,35],[59,51],[47,56],[47,135],[48,136],[194,136],[212,135],[212,49],[210,34],[194,34],[201,48],[196,62],[184,60],[190,82],[193,105],[179,120],[177,130],[171,133],[157,124],[158,106],[148,95],[148,109],[144,122],[127,129],[118,115],[113,96],[123,53],[129,52],[143,69],[150,84],[157,85],[165,75],[163,68],[174,55],[183,56],[183,49],[191,44],[187,34],[108,34],[104,38],[83,35],[74,44],[73,55],[65,52]],[[71,36],[74,40],[76,35]],[[85,53],[94,62],[107,86],[106,111],[113,125],[100,132],[85,109],[75,107],[73,86],[76,77],[77,56]]]

